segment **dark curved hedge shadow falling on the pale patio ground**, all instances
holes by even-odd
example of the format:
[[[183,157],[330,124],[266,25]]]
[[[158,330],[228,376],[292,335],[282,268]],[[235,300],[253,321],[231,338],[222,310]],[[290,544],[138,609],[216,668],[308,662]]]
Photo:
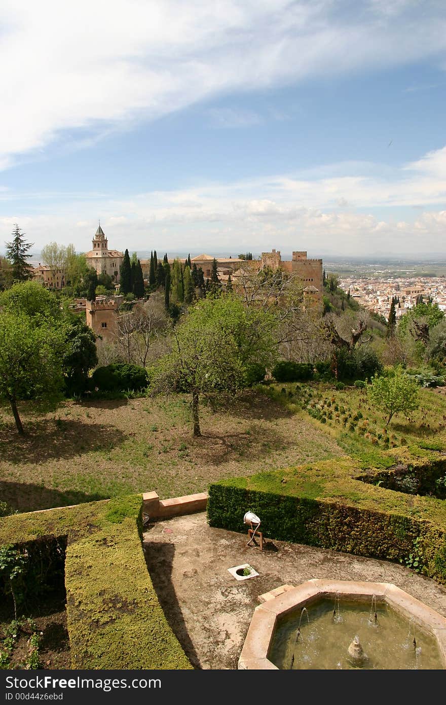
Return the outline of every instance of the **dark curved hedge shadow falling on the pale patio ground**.
[[[144,542],[144,557],[156,596],[171,630],[194,668],[201,668],[172,583],[173,544]]]

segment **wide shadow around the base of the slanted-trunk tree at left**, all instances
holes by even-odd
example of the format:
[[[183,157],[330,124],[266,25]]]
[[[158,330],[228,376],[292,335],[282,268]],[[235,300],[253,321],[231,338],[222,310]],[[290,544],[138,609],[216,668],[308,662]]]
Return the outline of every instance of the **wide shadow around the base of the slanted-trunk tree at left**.
[[[0,429],[0,458],[35,465],[47,460],[73,458],[92,450],[109,450],[124,440],[122,431],[111,425],[85,424],[73,419],[42,419],[28,422],[24,436],[19,436],[12,426]]]

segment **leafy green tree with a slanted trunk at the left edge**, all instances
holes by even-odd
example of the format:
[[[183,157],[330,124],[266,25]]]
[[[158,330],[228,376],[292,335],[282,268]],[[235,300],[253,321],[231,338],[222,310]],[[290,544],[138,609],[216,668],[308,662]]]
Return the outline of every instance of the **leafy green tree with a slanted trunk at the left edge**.
[[[23,425],[20,399],[54,399],[63,388],[61,353],[64,330],[53,321],[39,325],[23,312],[0,313],[0,398],[13,412],[18,433]]]

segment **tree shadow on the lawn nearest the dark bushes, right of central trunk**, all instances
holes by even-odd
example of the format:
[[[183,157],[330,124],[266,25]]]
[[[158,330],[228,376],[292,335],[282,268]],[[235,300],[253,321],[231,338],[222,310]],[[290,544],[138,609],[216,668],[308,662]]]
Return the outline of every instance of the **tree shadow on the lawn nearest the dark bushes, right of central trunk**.
[[[223,400],[218,400],[218,402],[212,399],[207,402],[204,400],[202,406],[209,408],[213,412],[223,411],[242,419],[265,419],[266,421],[289,419],[295,413],[269,398],[266,394],[250,390],[245,390],[232,397],[225,397]]]

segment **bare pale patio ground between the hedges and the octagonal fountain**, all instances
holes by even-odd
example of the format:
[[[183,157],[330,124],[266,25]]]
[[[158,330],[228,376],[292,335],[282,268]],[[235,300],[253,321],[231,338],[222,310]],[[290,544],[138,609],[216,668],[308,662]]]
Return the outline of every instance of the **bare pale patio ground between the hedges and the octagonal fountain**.
[[[446,587],[413,570],[349,553],[213,529],[206,513],[154,522],[144,533],[147,566],[159,601],[191,663],[235,669],[258,596],[311,578],[390,582],[446,617]],[[259,575],[235,580],[228,568],[249,563]]]

